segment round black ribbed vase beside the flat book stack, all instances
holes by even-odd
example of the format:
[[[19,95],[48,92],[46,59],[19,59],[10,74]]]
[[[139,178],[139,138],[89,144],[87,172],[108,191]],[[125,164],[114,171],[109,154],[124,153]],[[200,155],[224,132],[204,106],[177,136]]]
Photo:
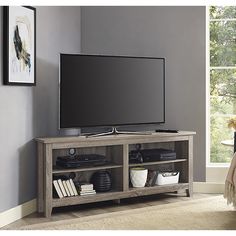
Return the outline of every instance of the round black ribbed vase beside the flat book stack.
[[[101,170],[95,172],[90,182],[96,192],[107,192],[111,190],[111,174],[108,171]]]

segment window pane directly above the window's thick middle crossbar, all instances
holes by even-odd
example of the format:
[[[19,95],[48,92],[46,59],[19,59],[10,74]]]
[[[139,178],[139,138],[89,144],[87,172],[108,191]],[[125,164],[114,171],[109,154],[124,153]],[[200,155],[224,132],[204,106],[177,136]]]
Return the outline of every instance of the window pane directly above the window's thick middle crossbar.
[[[210,22],[210,65],[236,66],[236,21]]]

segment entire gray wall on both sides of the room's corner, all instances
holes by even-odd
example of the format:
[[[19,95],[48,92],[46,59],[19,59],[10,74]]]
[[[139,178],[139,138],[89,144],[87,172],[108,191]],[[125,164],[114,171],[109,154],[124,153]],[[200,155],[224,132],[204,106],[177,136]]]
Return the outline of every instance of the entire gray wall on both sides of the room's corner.
[[[1,7],[0,35],[2,24]],[[37,7],[37,86],[2,85],[0,63],[0,212],[36,196],[33,139],[58,134],[58,54],[79,53],[80,39],[85,53],[166,57],[164,127],[197,131],[205,180],[205,8]]]

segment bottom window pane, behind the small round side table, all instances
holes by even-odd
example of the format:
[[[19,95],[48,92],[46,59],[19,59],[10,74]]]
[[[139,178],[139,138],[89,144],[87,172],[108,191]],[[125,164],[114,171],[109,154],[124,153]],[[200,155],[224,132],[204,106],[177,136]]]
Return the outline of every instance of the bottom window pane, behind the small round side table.
[[[233,131],[227,127],[230,117],[211,116],[211,157],[210,162],[227,163],[233,156],[233,147],[221,144],[221,141],[233,139]]]

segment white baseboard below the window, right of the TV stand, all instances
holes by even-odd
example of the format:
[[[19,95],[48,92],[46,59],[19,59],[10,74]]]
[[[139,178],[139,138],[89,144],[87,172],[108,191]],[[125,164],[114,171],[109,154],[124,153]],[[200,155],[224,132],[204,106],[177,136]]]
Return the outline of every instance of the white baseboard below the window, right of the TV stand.
[[[193,182],[194,193],[224,193],[224,183],[214,182]]]

